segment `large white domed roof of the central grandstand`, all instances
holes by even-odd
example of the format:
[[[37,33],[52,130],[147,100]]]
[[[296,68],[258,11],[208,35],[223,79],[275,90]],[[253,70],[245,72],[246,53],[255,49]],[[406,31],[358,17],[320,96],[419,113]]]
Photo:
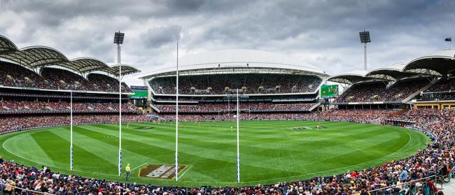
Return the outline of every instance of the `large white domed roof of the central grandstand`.
[[[166,64],[151,70],[141,79],[175,75],[176,64]],[[259,50],[218,50],[179,58],[179,74],[207,73],[307,73],[328,76],[321,68],[287,55]]]

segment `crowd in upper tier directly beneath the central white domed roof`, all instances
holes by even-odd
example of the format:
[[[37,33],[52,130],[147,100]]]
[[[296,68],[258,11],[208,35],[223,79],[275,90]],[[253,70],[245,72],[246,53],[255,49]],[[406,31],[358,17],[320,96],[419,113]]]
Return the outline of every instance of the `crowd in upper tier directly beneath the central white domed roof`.
[[[242,94],[314,92],[321,78],[312,75],[195,75],[179,78],[179,94]],[[175,78],[155,78],[152,89],[158,94],[175,94]]]

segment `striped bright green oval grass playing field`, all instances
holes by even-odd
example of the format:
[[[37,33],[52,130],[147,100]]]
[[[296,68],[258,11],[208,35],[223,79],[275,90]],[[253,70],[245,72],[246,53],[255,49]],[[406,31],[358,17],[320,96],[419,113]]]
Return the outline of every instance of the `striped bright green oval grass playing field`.
[[[240,122],[241,185],[302,180],[377,166],[408,157],[423,147],[422,133],[398,127],[347,122]],[[145,128],[144,128],[145,127]],[[146,164],[174,164],[175,124],[123,126],[123,164],[132,182],[169,186],[237,185],[235,122],[181,122],[179,182],[138,176]],[[231,127],[233,131],[231,131]],[[292,129],[309,127],[311,129]],[[124,181],[117,175],[118,124],[73,128],[74,171],[69,171],[69,127],[0,136],[0,155],[29,166],[90,178]]]

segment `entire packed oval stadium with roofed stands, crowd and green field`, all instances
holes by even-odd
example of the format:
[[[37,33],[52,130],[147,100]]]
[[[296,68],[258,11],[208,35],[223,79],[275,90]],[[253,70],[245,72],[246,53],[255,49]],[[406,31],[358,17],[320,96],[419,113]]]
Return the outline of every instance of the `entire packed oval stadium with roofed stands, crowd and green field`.
[[[328,75],[273,52],[217,50],[128,86],[134,66],[0,36],[3,190],[433,193],[454,166],[454,60],[440,50]]]

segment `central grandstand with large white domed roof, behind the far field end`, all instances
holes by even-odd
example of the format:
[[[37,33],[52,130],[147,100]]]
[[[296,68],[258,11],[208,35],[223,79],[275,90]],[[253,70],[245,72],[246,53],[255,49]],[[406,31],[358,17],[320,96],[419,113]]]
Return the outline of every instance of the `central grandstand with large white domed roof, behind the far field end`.
[[[244,102],[241,112],[308,112],[318,108],[318,89],[328,77],[311,64],[258,50],[207,52],[179,63],[183,113],[230,113],[237,89]],[[141,77],[151,86],[151,107],[157,113],[175,112],[175,68],[160,66]]]

